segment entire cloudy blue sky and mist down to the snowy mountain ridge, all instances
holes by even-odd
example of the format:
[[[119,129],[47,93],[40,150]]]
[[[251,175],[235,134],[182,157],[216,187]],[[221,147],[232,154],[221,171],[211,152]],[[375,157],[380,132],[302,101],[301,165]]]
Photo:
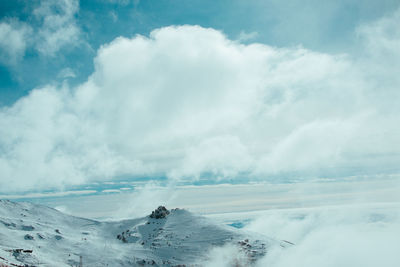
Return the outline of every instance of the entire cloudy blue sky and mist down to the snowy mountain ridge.
[[[295,243],[259,266],[395,267],[398,25],[398,0],[0,0],[0,198]]]

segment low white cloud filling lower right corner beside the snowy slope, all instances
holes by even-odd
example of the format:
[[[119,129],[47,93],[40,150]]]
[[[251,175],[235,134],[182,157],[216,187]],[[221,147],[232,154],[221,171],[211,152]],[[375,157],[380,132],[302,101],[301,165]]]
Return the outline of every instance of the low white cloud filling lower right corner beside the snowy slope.
[[[276,210],[246,229],[295,243],[268,251],[258,266],[394,267],[400,260],[398,206]]]

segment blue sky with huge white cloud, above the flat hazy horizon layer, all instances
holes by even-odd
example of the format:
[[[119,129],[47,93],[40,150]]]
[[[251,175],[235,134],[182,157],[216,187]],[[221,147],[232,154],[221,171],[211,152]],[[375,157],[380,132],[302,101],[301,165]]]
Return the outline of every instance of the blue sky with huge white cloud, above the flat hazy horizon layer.
[[[396,175],[399,22],[389,0],[1,1],[0,192]]]

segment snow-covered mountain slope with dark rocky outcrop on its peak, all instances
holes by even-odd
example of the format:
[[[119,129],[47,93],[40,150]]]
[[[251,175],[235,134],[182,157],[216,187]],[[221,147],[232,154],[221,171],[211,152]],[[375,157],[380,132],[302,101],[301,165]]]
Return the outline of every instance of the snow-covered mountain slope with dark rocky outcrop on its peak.
[[[100,222],[0,200],[0,266],[202,266],[212,248],[229,243],[248,265],[271,246],[288,245],[182,209]]]

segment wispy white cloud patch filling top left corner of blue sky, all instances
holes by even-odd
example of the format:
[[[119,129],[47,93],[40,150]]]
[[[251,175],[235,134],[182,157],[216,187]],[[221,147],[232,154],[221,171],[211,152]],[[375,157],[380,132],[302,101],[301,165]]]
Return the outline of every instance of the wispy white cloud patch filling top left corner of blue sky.
[[[84,43],[76,22],[78,0],[44,0],[33,10],[38,25],[11,18],[0,22],[0,62],[15,66],[34,48],[42,55],[55,56],[59,50]]]

